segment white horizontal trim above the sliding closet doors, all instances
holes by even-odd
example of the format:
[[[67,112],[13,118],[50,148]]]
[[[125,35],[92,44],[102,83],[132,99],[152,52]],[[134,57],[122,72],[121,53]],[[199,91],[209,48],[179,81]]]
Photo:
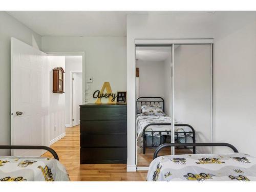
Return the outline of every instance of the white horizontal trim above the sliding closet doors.
[[[161,45],[172,45],[172,44],[213,44],[214,39],[135,39],[135,44],[161,44]]]

